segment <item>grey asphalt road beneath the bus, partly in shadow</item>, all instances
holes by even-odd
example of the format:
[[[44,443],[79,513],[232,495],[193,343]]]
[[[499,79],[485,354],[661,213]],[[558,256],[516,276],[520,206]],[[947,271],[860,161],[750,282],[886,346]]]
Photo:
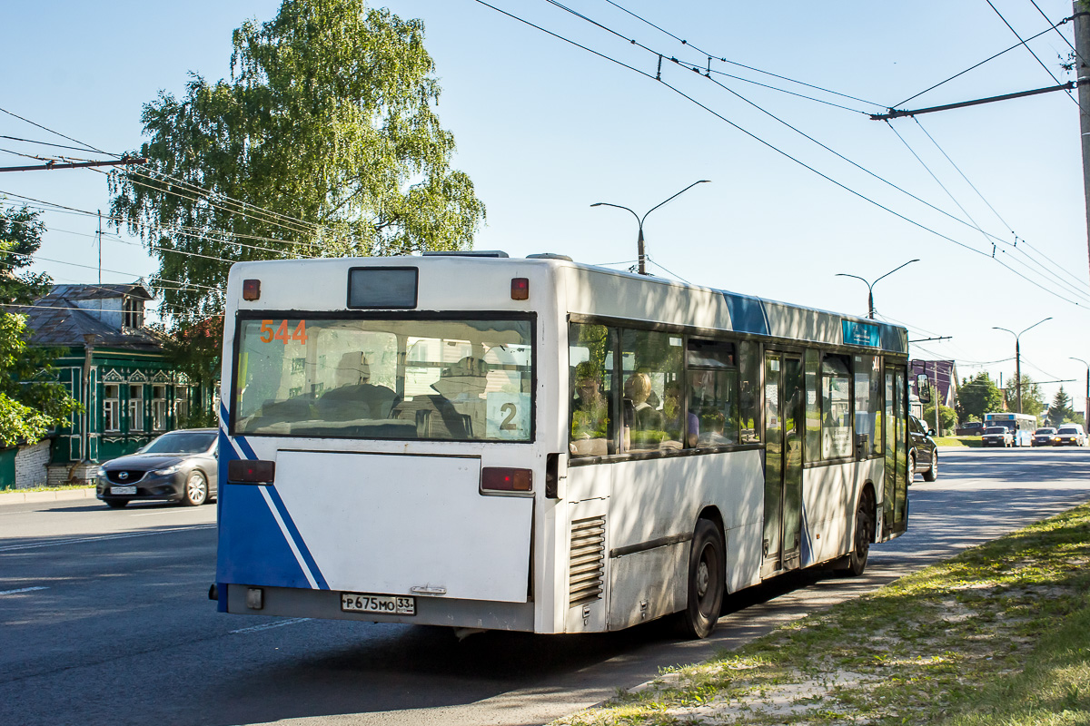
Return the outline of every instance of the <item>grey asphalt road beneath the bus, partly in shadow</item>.
[[[547,723],[790,619],[1090,499],[1090,450],[942,452],[910,529],[867,574],[779,578],[728,599],[707,640],[219,614],[215,506],[0,506],[0,724]]]

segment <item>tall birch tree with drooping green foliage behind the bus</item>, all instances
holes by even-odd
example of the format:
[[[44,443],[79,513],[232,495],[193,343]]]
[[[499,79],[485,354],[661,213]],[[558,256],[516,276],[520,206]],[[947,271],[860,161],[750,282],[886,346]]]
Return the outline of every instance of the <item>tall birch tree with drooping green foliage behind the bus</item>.
[[[284,0],[233,47],[229,81],[191,74],[184,98],[144,107],[147,165],[111,177],[111,211],[158,258],[175,332],[222,311],[220,260],[471,244],[485,210],[449,165],[421,21]]]

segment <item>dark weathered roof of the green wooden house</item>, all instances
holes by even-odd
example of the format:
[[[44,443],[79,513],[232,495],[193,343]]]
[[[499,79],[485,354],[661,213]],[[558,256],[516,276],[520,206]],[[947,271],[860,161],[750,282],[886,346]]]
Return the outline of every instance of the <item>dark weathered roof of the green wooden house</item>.
[[[26,327],[33,331],[31,345],[83,346],[85,335],[94,335],[97,346],[135,350],[160,350],[167,336],[150,328],[119,330],[104,323],[94,311],[81,309],[73,300],[106,299],[129,295],[152,299],[144,285],[53,285],[33,306],[11,306],[13,312],[26,316]]]

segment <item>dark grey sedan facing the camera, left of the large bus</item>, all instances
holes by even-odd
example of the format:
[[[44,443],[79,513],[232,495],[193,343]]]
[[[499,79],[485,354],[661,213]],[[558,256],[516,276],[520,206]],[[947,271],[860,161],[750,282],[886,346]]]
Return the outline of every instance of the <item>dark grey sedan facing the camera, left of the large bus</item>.
[[[98,468],[96,496],[111,507],[166,500],[198,506],[217,494],[217,429],[180,429]]]

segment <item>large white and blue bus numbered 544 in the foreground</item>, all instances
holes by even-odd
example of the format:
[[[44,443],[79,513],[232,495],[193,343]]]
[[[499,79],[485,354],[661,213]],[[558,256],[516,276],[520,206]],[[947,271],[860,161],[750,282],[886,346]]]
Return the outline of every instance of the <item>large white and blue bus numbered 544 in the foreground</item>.
[[[704,637],[908,526],[904,328],[498,253],[239,263],[223,330],[222,612]]]

